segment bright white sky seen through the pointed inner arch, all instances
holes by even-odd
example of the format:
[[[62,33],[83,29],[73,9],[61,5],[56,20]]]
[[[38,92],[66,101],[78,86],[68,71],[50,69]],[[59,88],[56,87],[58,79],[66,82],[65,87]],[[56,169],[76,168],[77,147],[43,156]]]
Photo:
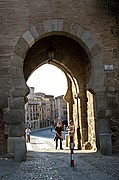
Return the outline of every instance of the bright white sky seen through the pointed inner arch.
[[[42,92],[55,97],[65,95],[67,90],[66,76],[59,68],[45,64],[36,69],[27,81],[29,87],[36,92]]]

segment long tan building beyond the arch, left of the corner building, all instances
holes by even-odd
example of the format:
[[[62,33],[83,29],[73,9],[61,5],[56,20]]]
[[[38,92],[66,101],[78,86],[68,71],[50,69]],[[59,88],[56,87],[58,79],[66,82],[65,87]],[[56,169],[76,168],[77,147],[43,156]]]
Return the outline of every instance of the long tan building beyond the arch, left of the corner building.
[[[25,125],[32,129],[39,129],[54,125],[56,119],[55,98],[53,95],[45,93],[34,93],[34,88],[30,88],[27,96],[28,102],[25,104]]]

